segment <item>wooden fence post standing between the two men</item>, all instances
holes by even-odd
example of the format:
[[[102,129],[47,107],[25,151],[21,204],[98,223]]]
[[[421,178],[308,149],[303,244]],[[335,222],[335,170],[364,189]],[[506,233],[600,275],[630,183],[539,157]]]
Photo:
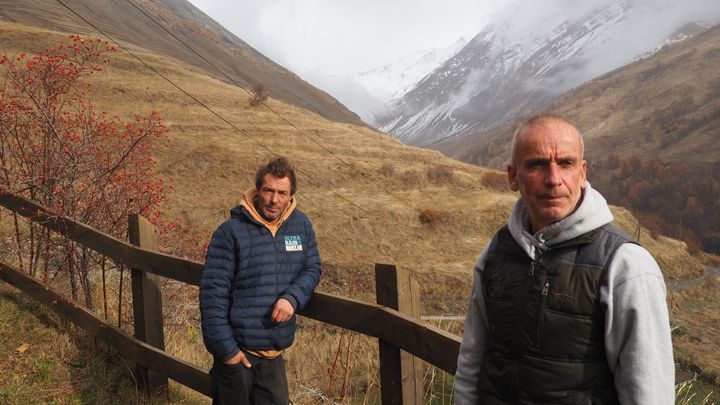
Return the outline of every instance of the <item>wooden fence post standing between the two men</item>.
[[[375,291],[378,304],[420,319],[420,283],[407,271],[390,264],[375,264]],[[383,405],[422,404],[422,361],[389,343],[379,342]]]

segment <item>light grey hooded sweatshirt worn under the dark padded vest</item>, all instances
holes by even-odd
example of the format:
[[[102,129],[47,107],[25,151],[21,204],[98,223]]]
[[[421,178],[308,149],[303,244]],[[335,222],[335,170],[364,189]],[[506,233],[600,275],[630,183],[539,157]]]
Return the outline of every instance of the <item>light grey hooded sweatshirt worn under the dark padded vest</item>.
[[[520,199],[513,207],[508,227],[531,259],[544,246],[575,238],[613,219],[605,199],[587,183],[578,209],[562,221],[531,234],[527,207]],[[477,379],[483,355],[489,348],[488,324],[482,279],[487,247],[473,272],[474,283],[465,333],[455,373],[455,404],[476,405]],[[657,263],[641,246],[626,243],[615,253],[600,286],[606,308],[605,352],[623,405],[672,405],[675,403],[675,366],[665,282]]]

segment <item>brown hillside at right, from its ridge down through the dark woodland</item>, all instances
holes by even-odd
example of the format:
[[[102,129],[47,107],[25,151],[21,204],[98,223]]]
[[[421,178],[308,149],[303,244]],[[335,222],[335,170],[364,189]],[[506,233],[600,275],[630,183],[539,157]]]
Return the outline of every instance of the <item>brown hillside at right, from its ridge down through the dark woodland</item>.
[[[609,201],[661,217],[651,222],[664,221],[656,227],[663,233],[679,236],[680,225],[689,227],[693,237],[715,253],[720,252],[720,185],[715,174],[720,170],[719,43],[717,26],[600,76],[538,109],[563,114],[577,123],[585,136],[590,180],[595,179]],[[506,125],[438,148],[466,162],[502,168],[507,164],[513,129]],[[641,165],[650,167],[642,178]],[[661,175],[660,166],[675,175]],[[635,198],[631,190],[642,179],[648,187]],[[683,193],[675,195],[681,189]],[[657,195],[669,199],[658,205]],[[693,206],[688,206],[689,197],[696,200]]]

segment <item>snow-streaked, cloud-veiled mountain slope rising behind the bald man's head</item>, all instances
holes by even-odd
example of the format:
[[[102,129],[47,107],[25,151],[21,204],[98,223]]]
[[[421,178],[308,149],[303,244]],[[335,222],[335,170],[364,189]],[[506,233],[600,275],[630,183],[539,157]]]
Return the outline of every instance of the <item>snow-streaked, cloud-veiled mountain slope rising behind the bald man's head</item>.
[[[658,11],[649,0],[514,2],[376,124],[406,143],[430,146],[506,123],[656,48],[696,18],[684,11],[698,2],[707,3],[664,1]]]

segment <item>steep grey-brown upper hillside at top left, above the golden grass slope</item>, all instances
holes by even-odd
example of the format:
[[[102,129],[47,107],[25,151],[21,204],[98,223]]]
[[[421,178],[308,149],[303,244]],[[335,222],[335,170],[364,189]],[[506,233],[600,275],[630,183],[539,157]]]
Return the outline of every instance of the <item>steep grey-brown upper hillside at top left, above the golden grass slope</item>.
[[[252,89],[261,84],[273,97],[330,120],[361,123],[357,115],[330,95],[266,58],[185,0],[64,0],[62,3],[116,40],[177,59],[205,74],[227,80],[143,15],[143,12],[147,13],[245,88]],[[100,36],[78,16],[52,0],[0,0],[0,21]]]

